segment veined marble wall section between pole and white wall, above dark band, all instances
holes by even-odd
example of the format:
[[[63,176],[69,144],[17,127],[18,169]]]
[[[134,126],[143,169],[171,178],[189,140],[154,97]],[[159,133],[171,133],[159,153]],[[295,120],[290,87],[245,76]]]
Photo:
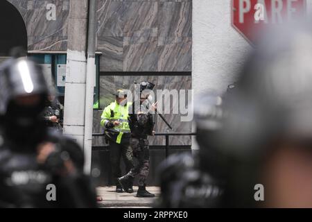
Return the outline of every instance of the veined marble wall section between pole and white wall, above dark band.
[[[101,71],[191,71],[191,0],[98,0]]]

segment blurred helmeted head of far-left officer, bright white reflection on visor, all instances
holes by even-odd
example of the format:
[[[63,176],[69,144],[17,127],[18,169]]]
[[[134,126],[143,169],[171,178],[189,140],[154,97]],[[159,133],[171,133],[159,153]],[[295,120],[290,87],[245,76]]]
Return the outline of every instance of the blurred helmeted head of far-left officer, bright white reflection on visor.
[[[42,136],[41,112],[48,86],[42,68],[28,58],[11,58],[0,67],[0,115],[7,137],[22,144]]]

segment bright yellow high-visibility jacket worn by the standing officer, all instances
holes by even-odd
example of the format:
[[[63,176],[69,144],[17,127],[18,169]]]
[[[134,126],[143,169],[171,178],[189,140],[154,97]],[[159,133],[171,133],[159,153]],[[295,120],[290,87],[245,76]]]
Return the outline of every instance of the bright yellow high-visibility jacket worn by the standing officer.
[[[108,121],[119,121],[119,126],[114,126],[110,128],[111,133],[116,133],[118,136],[116,137],[116,143],[121,143],[121,137],[123,133],[130,133],[129,123],[128,123],[128,115],[129,115],[129,106],[132,103],[128,102],[126,105],[119,105],[114,101],[110,103],[102,113],[101,116],[101,126],[105,127]]]

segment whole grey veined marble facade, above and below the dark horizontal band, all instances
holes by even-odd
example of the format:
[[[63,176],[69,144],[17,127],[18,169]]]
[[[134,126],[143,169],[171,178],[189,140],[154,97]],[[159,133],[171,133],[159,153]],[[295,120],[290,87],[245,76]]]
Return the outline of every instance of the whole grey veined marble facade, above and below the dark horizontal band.
[[[8,1],[24,19],[28,51],[67,51],[70,0]],[[94,110],[94,133],[102,130],[99,119],[114,100],[112,92],[132,87],[134,80],[150,80],[158,89],[191,89],[191,0],[98,0],[97,12],[101,109]],[[174,132],[191,131],[191,123],[181,122],[179,114],[165,117]],[[156,130],[168,130],[157,117]],[[104,144],[103,138],[94,139],[94,146]],[[164,145],[164,138],[155,137],[151,144]],[[171,144],[191,145],[191,139],[176,137]]]

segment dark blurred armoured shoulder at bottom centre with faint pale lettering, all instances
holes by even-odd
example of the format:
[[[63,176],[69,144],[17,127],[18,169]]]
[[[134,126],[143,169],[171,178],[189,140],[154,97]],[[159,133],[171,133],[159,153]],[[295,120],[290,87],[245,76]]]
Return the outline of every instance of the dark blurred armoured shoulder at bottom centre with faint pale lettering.
[[[222,188],[198,169],[189,153],[170,155],[158,167],[161,194],[156,207],[216,207]]]

